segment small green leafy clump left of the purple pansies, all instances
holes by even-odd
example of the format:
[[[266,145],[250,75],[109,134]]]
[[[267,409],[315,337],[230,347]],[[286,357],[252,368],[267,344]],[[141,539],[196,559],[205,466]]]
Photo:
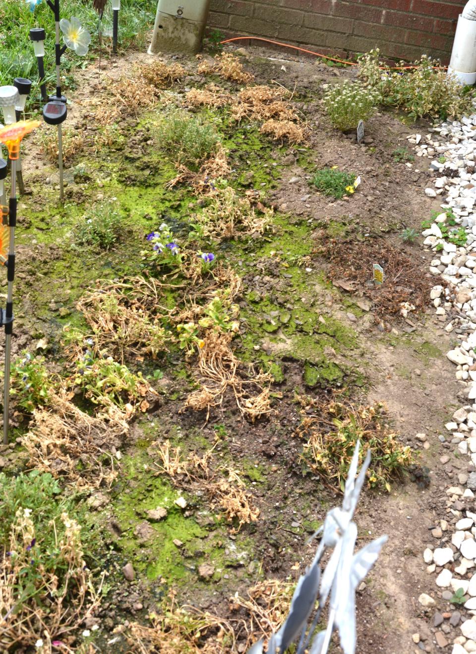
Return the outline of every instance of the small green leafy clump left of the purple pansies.
[[[118,206],[109,200],[95,205],[76,224],[76,246],[110,250],[123,232]]]

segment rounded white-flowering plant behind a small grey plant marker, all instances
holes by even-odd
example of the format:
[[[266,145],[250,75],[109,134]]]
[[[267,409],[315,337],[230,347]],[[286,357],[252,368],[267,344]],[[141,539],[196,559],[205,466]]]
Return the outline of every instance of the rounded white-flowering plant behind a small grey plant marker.
[[[332,125],[341,131],[356,129],[359,120],[368,120],[377,111],[380,94],[359,82],[345,80],[324,96],[324,106]]]

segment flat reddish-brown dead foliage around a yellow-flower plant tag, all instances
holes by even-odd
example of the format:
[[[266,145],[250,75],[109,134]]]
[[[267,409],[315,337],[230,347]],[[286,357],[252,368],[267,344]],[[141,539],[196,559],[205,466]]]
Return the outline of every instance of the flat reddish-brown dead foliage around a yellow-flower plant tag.
[[[377,239],[365,242],[327,239],[322,233],[315,254],[330,263],[327,274],[336,286],[370,298],[377,321],[398,317],[402,303],[413,305],[416,311],[424,311],[430,289],[435,284],[434,278],[421,274],[414,259],[388,241],[384,245]],[[372,283],[372,266],[377,263],[385,271],[381,286]]]

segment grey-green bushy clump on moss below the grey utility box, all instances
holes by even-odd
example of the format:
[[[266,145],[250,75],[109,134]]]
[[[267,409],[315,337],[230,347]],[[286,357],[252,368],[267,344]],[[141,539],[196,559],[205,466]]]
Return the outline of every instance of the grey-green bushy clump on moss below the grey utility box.
[[[157,128],[155,143],[167,150],[178,165],[193,171],[217,149],[220,137],[212,123],[174,109]]]

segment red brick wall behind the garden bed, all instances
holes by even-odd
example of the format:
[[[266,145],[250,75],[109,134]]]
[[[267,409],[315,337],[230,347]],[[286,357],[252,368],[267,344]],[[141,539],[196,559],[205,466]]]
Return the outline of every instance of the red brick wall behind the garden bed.
[[[323,54],[367,52],[448,63],[466,0],[212,0],[210,27],[311,46]],[[251,42],[253,43],[253,42]],[[246,44],[246,42],[242,43]]]

